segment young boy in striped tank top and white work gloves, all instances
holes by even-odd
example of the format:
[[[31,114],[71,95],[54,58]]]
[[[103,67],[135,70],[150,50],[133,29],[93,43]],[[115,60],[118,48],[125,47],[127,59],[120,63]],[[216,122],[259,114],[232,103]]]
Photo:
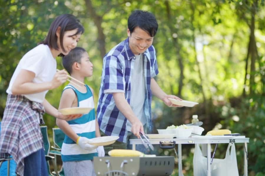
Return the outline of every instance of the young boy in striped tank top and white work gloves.
[[[76,47],[62,58],[64,68],[69,74],[84,82],[85,77],[93,74],[93,64],[84,48]],[[62,145],[62,161],[66,176],[95,175],[93,157],[104,156],[103,146],[90,145],[90,138],[100,137],[93,100],[93,90],[71,80],[75,84],[64,87],[59,109],[69,107],[92,107],[93,109],[78,119],[71,121],[56,120],[57,126],[66,134]],[[79,86],[76,86],[79,85]]]

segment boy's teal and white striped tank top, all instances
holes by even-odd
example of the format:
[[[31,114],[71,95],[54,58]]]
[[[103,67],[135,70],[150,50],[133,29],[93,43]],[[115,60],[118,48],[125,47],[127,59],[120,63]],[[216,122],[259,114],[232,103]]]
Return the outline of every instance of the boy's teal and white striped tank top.
[[[80,118],[67,121],[72,130],[77,133],[78,136],[95,138],[95,108],[92,92],[86,85],[87,92],[82,93],[75,89],[72,85],[67,85],[65,89],[73,89],[77,96],[78,107],[91,107],[93,108],[88,114],[84,114]],[[63,91],[64,91],[63,90]],[[97,150],[85,150],[77,145],[71,138],[65,135],[64,142],[62,144],[62,161],[81,161],[92,160],[94,156],[97,156]]]

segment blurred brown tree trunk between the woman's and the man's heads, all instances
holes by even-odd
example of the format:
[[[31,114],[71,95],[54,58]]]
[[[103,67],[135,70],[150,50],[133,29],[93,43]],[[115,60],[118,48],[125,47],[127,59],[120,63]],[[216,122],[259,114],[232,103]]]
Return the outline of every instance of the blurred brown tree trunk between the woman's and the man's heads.
[[[103,33],[103,28],[101,27],[102,18],[103,16],[97,15],[95,9],[93,8],[92,2],[90,0],[85,0],[85,4],[87,10],[90,13],[93,22],[97,26],[97,42],[99,45],[100,56],[103,59],[104,55],[106,54],[106,46],[105,46],[105,35]]]

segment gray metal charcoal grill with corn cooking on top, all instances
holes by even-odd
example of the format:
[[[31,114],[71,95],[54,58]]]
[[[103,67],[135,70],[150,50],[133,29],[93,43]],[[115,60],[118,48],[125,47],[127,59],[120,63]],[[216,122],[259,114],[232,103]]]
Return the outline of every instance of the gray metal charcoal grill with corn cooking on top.
[[[173,172],[174,157],[94,157],[94,168],[98,176],[167,176]]]

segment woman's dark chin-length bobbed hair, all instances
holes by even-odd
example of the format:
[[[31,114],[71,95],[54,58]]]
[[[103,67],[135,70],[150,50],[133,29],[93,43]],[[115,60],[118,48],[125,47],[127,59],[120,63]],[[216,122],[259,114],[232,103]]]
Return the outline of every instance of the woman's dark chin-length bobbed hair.
[[[58,50],[59,47],[57,45],[57,35],[56,35],[56,30],[58,27],[61,28],[59,40],[60,40],[61,48],[64,52],[65,52],[64,47],[63,47],[64,32],[77,29],[77,32],[74,34],[74,35],[77,35],[77,34],[82,34],[85,31],[82,24],[75,16],[71,14],[63,14],[63,15],[58,16],[52,22],[46,38],[39,44],[45,44],[45,45],[48,45],[50,48]]]

